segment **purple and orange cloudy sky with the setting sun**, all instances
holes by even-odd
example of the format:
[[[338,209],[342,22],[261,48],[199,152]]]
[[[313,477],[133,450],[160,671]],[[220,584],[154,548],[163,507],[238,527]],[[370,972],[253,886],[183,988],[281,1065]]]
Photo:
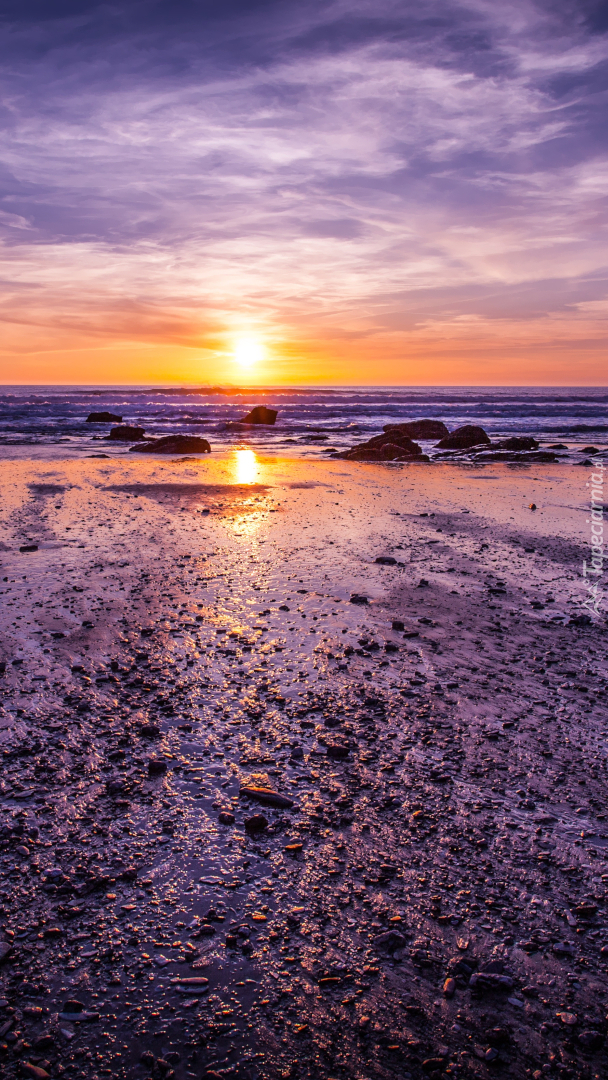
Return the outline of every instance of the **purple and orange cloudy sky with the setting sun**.
[[[596,0],[3,0],[0,382],[603,386]]]

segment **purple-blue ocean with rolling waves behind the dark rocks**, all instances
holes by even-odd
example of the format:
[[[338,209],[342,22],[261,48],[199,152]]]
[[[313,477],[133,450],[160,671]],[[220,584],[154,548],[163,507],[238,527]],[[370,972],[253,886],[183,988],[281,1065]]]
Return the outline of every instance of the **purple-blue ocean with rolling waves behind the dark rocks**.
[[[260,404],[279,410],[274,427],[231,427]],[[127,454],[130,444],[105,440],[110,424],[86,423],[89,413],[107,409],[147,435],[203,435],[221,450],[246,446],[265,455],[325,457],[378,434],[386,423],[429,418],[450,431],[481,424],[492,438],[563,442],[564,456],[576,460],[585,445],[608,442],[607,406],[604,387],[8,386],[0,388],[0,458]]]

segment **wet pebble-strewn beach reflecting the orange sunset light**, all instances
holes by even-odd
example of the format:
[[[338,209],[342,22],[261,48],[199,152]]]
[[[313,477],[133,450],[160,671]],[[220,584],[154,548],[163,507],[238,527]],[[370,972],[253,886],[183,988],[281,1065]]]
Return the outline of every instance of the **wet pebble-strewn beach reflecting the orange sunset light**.
[[[5,1076],[606,1075],[589,470],[0,476]]]

